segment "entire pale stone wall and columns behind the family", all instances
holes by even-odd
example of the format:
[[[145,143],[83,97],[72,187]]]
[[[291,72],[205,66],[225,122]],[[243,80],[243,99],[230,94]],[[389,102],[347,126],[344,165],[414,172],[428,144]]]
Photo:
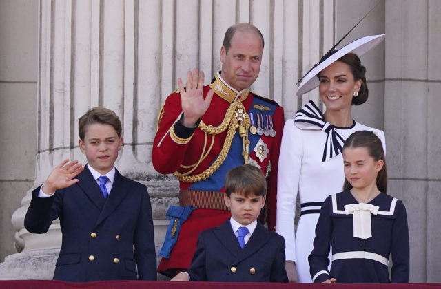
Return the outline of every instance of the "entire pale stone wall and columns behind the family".
[[[317,89],[295,96],[298,78],[377,2],[0,1],[0,257],[8,256],[0,279],[52,277],[59,224],[45,235],[25,231],[29,190],[64,158],[85,161],[76,122],[90,107],[109,107],[123,120],[116,167],[148,187],[159,249],[178,188],[154,171],[150,153],[158,111],[176,78],[192,67],[214,74],[225,30],[253,23],[265,51],[252,89],[292,118],[318,100]],[[441,281],[440,13],[437,0],[380,1],[343,41],[387,34],[362,56],[370,94],[353,117],[386,133],[389,193],[407,206],[413,282]]]

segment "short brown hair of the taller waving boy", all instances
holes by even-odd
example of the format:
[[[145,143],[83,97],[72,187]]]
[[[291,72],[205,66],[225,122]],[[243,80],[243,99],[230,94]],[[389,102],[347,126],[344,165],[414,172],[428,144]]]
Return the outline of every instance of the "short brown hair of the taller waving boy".
[[[84,141],[86,129],[88,129],[89,125],[93,125],[94,123],[112,125],[112,127],[116,130],[118,137],[121,138],[123,128],[121,126],[121,120],[119,120],[119,117],[116,116],[116,114],[110,109],[106,109],[104,107],[93,107],[78,120],[78,132],[81,140]]]

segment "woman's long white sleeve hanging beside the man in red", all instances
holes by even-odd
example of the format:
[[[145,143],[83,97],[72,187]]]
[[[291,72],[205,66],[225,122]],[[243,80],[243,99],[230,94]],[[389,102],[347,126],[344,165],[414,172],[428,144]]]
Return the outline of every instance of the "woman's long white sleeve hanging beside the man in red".
[[[276,232],[285,238],[285,257],[296,261],[294,218],[302,164],[301,132],[294,120],[285,122],[278,160]]]

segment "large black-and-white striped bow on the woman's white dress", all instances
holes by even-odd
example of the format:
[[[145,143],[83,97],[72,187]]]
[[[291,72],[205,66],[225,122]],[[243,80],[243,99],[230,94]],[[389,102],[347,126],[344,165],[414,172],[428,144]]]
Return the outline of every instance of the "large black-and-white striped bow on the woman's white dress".
[[[294,122],[296,122],[296,126],[300,129],[321,129],[327,133],[322,162],[342,153],[345,137],[336,131],[334,125],[325,120],[322,111],[318,109],[314,101],[309,100],[306,105],[297,111]]]

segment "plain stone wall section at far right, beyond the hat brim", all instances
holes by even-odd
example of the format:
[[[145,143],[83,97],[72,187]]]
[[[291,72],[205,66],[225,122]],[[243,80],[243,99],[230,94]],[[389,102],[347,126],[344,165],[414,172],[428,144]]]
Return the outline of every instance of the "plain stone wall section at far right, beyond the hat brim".
[[[389,191],[407,208],[413,282],[441,281],[440,13],[439,1],[386,1]]]

